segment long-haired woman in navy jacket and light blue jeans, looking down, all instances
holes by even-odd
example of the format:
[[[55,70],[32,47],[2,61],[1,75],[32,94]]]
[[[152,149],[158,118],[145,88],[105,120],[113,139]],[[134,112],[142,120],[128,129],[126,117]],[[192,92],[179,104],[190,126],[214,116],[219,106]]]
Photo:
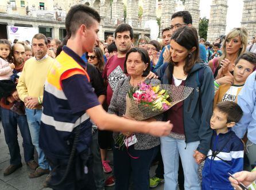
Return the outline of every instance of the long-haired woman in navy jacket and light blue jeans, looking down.
[[[193,91],[187,99],[164,113],[164,119],[173,124],[170,135],[160,138],[165,189],[177,189],[180,155],[184,188],[198,190],[201,189],[197,175],[199,164],[208,153],[212,136],[210,118],[214,77],[210,67],[200,61],[195,28],[185,26],[177,29],[170,41],[170,53],[170,63],[157,70],[162,84],[188,86]],[[201,155],[199,161],[193,158],[197,154]]]

